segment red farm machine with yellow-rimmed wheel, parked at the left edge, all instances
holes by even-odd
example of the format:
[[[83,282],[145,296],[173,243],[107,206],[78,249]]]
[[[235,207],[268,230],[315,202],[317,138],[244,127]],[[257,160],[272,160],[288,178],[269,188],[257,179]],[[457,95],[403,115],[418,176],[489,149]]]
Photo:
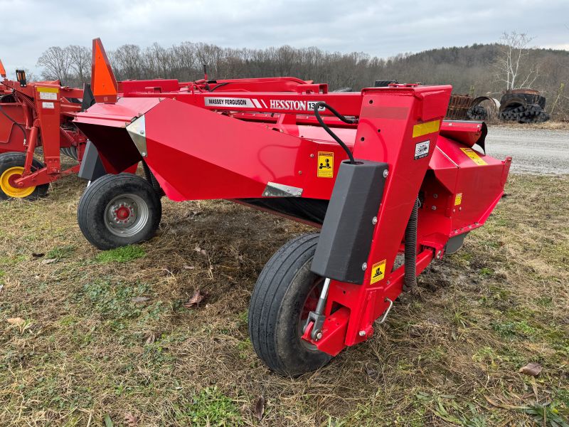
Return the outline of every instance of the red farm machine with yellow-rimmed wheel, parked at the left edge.
[[[82,109],[83,90],[58,81],[28,83],[16,71],[16,80],[0,74],[0,199],[37,199],[50,182],[76,173],[80,164],[61,168],[60,154],[80,160],[87,138],[72,120]],[[34,158],[43,151],[43,164]]]

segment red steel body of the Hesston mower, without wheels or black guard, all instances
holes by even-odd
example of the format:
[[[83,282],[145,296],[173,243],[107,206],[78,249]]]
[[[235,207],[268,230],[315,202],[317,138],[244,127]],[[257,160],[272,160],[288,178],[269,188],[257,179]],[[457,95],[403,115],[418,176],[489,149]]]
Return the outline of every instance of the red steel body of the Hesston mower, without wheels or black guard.
[[[499,161],[471,148],[482,124],[442,122],[448,85],[329,93],[327,85],[298,79],[262,80],[218,80],[208,83],[209,90],[203,82],[123,82],[117,102],[96,104],[75,122],[107,170],[121,172],[144,159],[169,199],[262,198],[269,182],[302,189],[302,198],[329,199],[346,153],[314,126],[310,106],[322,101],[356,117],[356,124],[346,125],[321,111],[356,159],[385,162],[389,174],[363,284],[331,280],[322,337],[313,341],[310,328],[303,336],[336,355],[371,337],[373,322],[402,292],[403,267],[393,266],[418,195],[420,273],[445,255],[450,238],[486,221],[503,194],[511,158]],[[144,151],[127,132],[143,118]],[[418,144],[427,142],[428,152],[418,157]],[[331,177],[317,174],[321,152],[333,153]],[[372,280],[378,269],[383,277]]]

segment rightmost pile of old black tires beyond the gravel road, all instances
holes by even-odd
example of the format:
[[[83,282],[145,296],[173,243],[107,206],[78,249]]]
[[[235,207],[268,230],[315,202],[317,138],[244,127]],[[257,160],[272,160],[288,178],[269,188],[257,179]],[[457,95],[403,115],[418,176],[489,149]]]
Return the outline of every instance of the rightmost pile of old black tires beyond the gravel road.
[[[549,120],[545,112],[546,98],[537,90],[508,90],[500,100],[499,117],[501,120],[516,120],[520,123],[538,123]]]

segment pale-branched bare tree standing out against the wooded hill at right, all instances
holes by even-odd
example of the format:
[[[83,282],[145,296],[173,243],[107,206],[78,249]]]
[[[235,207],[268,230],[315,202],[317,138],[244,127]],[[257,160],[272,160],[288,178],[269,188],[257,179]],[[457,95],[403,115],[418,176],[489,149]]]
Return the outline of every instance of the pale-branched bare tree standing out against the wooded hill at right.
[[[496,59],[496,80],[506,83],[506,89],[530,88],[539,77],[539,63],[531,58],[526,33],[504,32],[500,38],[501,54]]]

